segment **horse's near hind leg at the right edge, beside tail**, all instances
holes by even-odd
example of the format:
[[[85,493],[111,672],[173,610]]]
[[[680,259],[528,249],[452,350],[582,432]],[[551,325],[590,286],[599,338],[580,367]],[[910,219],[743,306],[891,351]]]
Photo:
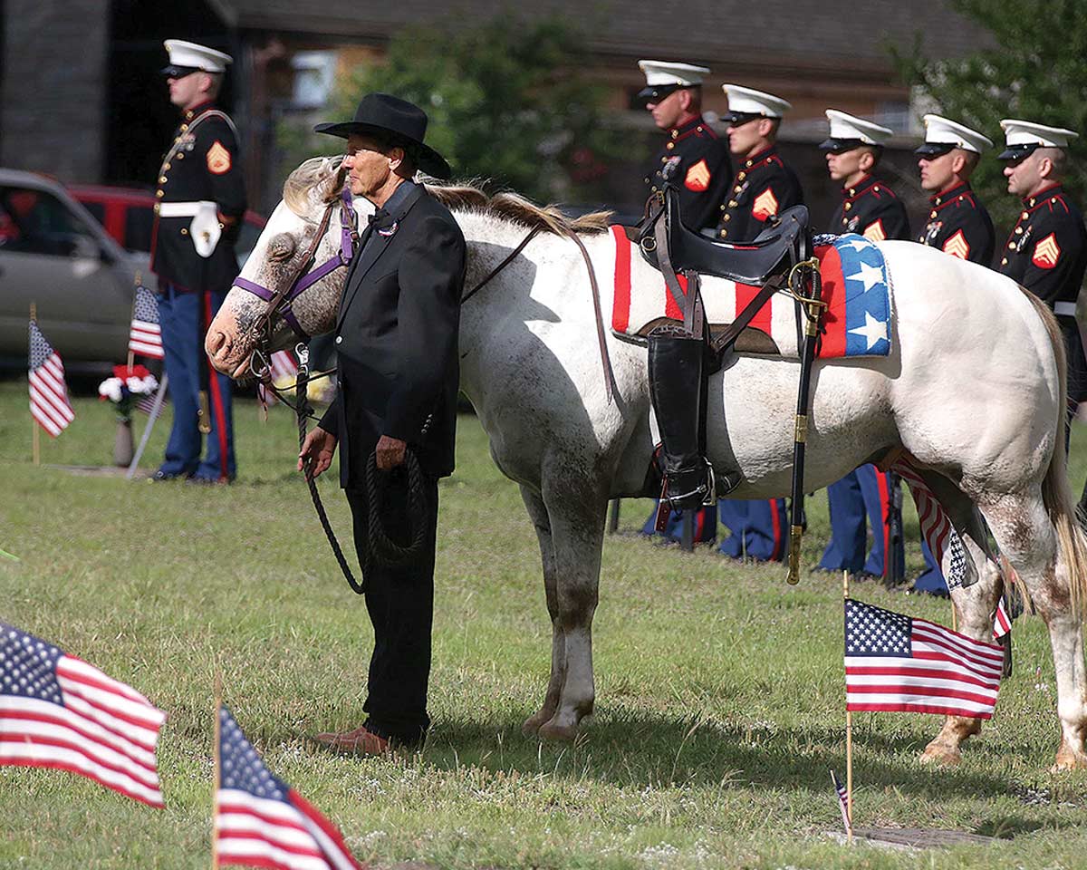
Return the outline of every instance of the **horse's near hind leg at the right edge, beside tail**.
[[[1070,557],[1058,549],[1058,533],[1037,488],[1028,496],[1001,495],[982,501],[1000,551],[1026,586],[1035,610],[1049,627],[1057,673],[1061,746],[1054,769],[1087,767],[1087,674],[1079,613],[1072,600]]]

